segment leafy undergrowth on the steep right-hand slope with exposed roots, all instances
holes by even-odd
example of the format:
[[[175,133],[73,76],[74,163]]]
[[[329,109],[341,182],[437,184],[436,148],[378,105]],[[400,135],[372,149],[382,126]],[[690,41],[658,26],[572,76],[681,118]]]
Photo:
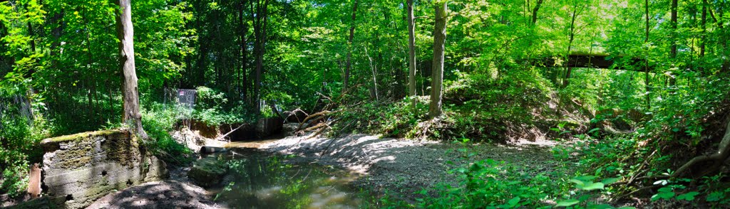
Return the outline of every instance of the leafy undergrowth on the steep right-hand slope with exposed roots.
[[[685,78],[683,78],[685,79]],[[730,82],[723,79],[691,80],[694,87],[679,85],[655,92],[658,100],[649,117],[632,133],[575,135],[577,140],[553,148],[556,159],[575,161],[585,173],[599,178],[619,178],[612,197],[642,197],[656,204],[713,208],[728,203],[730,184],[726,170],[694,167],[690,175],[669,176],[689,159],[717,151],[730,112]],[[601,120],[593,120],[599,123]],[[598,133],[598,132],[596,132]],[[595,171],[595,173],[590,173]],[[651,187],[651,189],[646,189]],[[643,192],[636,192],[644,189]]]

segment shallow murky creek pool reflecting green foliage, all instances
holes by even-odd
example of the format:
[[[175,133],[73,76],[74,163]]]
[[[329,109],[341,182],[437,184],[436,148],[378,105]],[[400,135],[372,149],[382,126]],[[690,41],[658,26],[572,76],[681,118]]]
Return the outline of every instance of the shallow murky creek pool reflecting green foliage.
[[[231,208],[361,208],[365,192],[350,186],[358,176],[337,167],[292,163],[293,156],[258,150],[263,142],[230,143],[216,154],[230,167],[223,186],[210,189]],[[367,198],[365,198],[367,199]]]

